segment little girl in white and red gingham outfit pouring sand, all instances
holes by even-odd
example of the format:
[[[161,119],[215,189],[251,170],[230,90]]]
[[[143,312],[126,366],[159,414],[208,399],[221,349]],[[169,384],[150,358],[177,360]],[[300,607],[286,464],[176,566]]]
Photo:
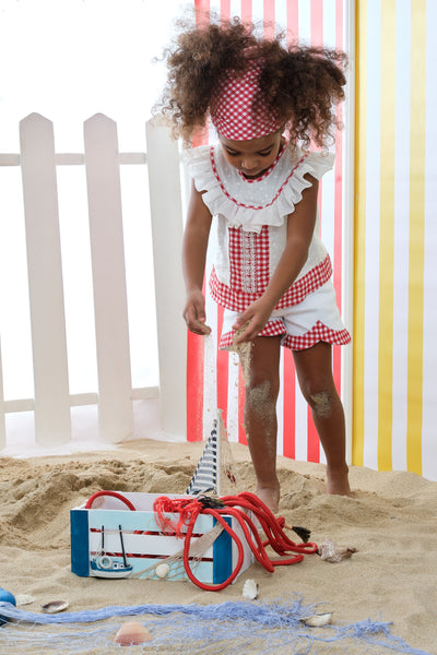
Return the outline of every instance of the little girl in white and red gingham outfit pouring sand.
[[[319,179],[332,167],[323,147],[343,97],[344,55],[285,48],[233,20],[192,27],[167,52],[161,110],[189,143],[210,118],[217,144],[187,153],[192,192],[184,237],[184,318],[194,334],[205,323],[202,284],[213,216],[216,259],[212,297],[224,310],[221,348],[251,342],[245,429],[257,493],[277,511],[276,400],[280,347],[293,350],[300,390],[327,457],[328,493],[350,493],[345,425],[332,378],[331,345],[351,341],[319,239]],[[237,334],[236,334],[237,333]]]

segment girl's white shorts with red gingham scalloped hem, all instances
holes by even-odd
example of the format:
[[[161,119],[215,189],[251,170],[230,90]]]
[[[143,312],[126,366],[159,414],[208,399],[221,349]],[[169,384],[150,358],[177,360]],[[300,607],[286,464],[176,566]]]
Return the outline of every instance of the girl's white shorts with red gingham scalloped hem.
[[[225,309],[220,348],[228,348],[235,335],[233,325],[239,312]],[[344,327],[335,301],[335,289],[329,279],[292,307],[276,309],[258,336],[282,335],[281,345],[292,350],[310,348],[318,342],[345,345],[351,335]]]

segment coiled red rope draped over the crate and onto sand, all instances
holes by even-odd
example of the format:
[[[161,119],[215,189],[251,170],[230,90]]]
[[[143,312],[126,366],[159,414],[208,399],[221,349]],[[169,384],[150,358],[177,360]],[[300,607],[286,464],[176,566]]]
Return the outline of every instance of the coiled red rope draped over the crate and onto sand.
[[[311,555],[317,551],[317,544],[312,541],[303,544],[292,541],[283,531],[283,527],[285,527],[284,519],[282,516],[276,519],[269,508],[255,493],[250,493],[249,491],[244,491],[236,496],[224,496],[217,500],[209,497],[169,499],[166,496],[161,496],[155,500],[153,510],[156,523],[161,525],[164,532],[172,529],[172,532],[176,532],[176,536],[185,539],[185,571],[191,582],[201,590],[212,592],[223,590],[236,579],[244,563],[245,550],[243,541],[225,521],[224,515],[233,516],[237,521],[256,560],[271,573],[273,573],[274,567],[295,564],[304,559],[304,555]],[[267,536],[264,541],[261,540],[253,521],[248,515],[249,511],[261,525]],[[166,517],[165,513],[179,514],[177,524],[175,525]],[[213,516],[234,540],[238,550],[238,559],[233,572],[227,580],[220,584],[201,582],[196,577],[190,567],[190,543],[194,523],[199,514]],[[271,560],[265,551],[267,546],[271,546],[280,556],[286,556],[291,552],[296,555],[286,559]]]

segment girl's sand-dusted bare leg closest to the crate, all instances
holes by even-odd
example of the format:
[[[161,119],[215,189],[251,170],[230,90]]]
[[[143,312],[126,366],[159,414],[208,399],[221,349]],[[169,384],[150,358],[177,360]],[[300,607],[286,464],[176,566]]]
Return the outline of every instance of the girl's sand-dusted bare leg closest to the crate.
[[[245,397],[245,429],[257,476],[257,495],[272,512],[277,512],[280,501],[276,476],[280,348],[280,336],[255,340]]]

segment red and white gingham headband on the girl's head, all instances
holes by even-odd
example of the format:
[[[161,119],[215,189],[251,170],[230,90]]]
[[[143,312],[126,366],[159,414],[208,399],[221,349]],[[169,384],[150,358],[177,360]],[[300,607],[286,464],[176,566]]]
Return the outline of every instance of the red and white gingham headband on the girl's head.
[[[262,61],[249,59],[244,73],[224,73],[210,104],[211,120],[222,136],[249,141],[272,134],[283,124],[259,93],[261,71]]]

